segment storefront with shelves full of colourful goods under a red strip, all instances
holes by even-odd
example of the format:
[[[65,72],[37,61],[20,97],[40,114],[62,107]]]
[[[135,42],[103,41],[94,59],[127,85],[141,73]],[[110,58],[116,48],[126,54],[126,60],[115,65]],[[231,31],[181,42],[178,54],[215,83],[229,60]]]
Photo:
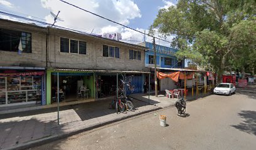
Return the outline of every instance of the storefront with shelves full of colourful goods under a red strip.
[[[0,106],[45,105],[45,69],[0,69]]]

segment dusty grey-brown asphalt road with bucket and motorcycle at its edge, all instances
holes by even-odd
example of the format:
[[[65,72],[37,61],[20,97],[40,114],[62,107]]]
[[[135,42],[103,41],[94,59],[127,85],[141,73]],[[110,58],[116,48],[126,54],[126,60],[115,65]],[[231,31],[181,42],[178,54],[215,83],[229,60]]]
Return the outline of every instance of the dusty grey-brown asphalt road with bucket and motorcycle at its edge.
[[[255,93],[253,93],[255,91]],[[176,108],[154,113],[167,116],[167,127],[148,113],[31,149],[255,149],[256,90],[232,96],[211,95],[187,103],[188,118]]]

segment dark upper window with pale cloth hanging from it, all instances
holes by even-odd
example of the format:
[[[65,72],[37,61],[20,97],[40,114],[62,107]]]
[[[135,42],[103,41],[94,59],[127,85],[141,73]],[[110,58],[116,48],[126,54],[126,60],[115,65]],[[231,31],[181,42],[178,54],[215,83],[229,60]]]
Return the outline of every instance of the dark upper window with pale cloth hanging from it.
[[[19,41],[23,53],[31,53],[31,33],[0,29],[0,50],[18,52]]]

